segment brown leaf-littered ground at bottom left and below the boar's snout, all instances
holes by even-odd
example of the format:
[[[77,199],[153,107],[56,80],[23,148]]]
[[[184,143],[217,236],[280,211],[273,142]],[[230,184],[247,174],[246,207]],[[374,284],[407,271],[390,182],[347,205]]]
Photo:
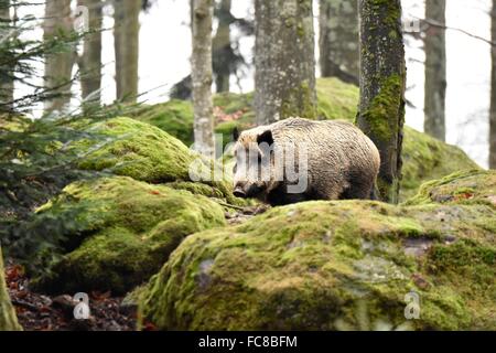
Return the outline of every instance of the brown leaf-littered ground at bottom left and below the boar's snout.
[[[267,205],[239,207],[226,213],[228,224],[240,224],[268,210]],[[19,323],[24,331],[134,331],[137,330],[137,308],[122,303],[122,297],[110,292],[90,292],[90,318],[77,320],[73,295],[47,296],[30,290],[30,279],[23,267],[8,259],[6,280],[10,299],[15,308]],[[154,330],[145,325],[144,330]]]

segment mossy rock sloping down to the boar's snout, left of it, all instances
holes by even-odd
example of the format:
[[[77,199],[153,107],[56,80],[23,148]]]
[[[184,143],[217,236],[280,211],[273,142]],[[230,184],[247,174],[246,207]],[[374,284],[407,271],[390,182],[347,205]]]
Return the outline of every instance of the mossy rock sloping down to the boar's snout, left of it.
[[[88,131],[98,138],[79,140],[71,147],[79,152],[78,168],[83,170],[149,183],[195,182],[198,183],[195,190],[208,189],[228,203],[244,204],[234,197],[229,174],[223,165],[201,157],[154,126],[121,117],[94,124]]]

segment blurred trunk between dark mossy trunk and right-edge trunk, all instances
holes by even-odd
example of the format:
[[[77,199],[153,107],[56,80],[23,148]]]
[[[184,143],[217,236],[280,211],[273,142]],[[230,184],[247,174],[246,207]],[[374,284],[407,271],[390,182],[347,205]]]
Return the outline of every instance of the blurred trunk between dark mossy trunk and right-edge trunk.
[[[425,18],[445,23],[445,0],[427,0]],[[430,26],[425,33],[425,97],[424,131],[445,140],[444,107],[446,96],[446,40],[445,30]]]

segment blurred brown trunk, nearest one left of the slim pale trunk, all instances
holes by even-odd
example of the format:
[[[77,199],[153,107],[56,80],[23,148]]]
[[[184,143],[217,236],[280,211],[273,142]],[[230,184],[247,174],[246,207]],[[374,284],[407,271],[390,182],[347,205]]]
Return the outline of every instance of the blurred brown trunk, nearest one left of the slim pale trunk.
[[[114,0],[117,99],[134,103],[138,97],[138,54],[141,1]]]

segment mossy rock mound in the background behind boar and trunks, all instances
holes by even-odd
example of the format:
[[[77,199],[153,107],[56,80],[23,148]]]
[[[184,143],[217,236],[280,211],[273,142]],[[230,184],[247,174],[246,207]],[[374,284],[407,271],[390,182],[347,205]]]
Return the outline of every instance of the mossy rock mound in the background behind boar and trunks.
[[[320,119],[355,120],[359,92],[354,85],[348,85],[337,78],[320,78],[316,84]],[[222,94],[214,99],[216,106],[216,132],[223,136],[223,146],[231,141],[235,127],[240,130],[255,126],[252,110],[252,94]],[[193,136],[193,113],[187,101],[172,100],[166,106],[150,107],[157,114],[155,119],[148,115],[138,115],[171,135],[182,139],[183,136]],[[188,108],[186,108],[188,107]],[[174,114],[174,111],[179,111]],[[191,114],[191,115],[188,115]],[[176,129],[177,120],[186,121],[182,125],[185,130]],[[191,139],[183,140],[191,142]],[[403,179],[401,181],[400,201],[405,201],[417,193],[419,186],[429,180],[434,180],[459,170],[477,169],[460,148],[446,145],[425,133],[405,127],[403,136]]]

